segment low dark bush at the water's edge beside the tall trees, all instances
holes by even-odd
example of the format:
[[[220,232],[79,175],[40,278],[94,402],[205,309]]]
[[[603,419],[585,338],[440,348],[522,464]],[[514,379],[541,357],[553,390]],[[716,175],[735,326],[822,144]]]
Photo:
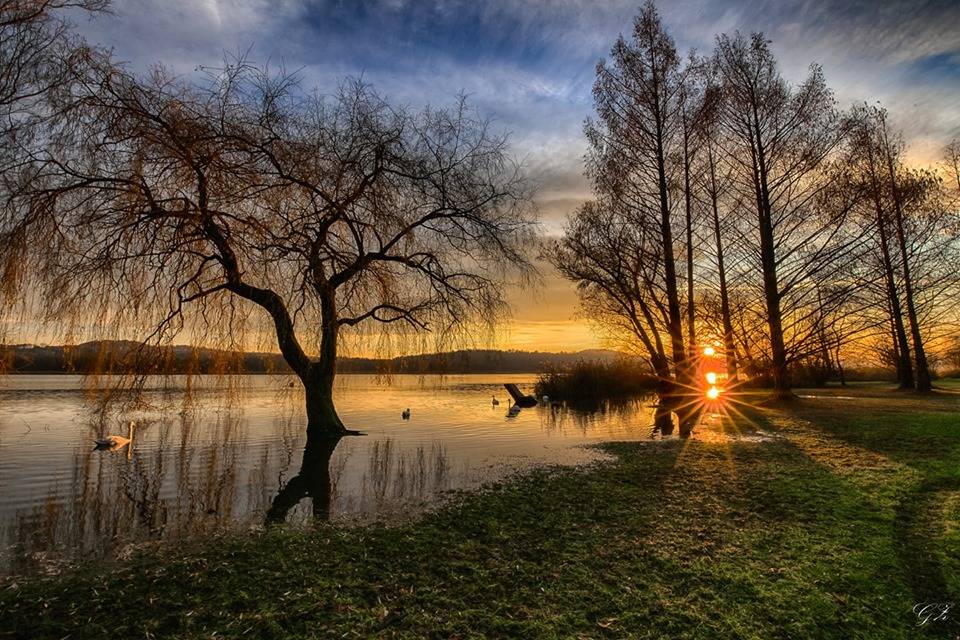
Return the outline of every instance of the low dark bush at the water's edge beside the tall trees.
[[[596,404],[650,393],[657,377],[640,361],[580,361],[569,367],[547,367],[539,375],[537,397]]]

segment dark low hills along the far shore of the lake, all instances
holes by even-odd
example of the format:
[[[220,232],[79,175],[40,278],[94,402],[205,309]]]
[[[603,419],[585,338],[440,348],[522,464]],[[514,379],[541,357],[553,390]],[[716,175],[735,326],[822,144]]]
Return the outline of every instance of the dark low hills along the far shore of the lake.
[[[470,349],[398,358],[341,358],[340,373],[535,373],[578,360],[610,361],[617,351],[575,353]],[[144,346],[104,340],[78,345],[0,345],[0,370],[12,373],[289,373],[278,353],[244,353],[190,346]]]

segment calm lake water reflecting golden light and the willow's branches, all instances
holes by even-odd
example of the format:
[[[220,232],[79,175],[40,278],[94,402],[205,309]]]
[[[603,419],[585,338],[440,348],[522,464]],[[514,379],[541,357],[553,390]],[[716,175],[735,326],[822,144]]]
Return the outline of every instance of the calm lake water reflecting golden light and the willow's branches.
[[[366,435],[305,453],[303,393],[291,381],[158,379],[141,402],[107,407],[79,376],[0,376],[0,575],[268,519],[397,519],[532,465],[601,459],[581,445],[647,439],[654,423],[649,399],[509,415],[503,383],[530,392],[532,376],[341,375],[341,418]],[[97,437],[126,436],[131,420],[131,446],[94,449]]]

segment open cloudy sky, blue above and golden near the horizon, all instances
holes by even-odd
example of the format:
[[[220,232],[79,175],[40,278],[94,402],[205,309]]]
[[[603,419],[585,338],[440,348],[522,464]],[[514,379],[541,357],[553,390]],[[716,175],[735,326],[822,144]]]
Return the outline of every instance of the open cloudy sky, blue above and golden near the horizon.
[[[785,77],[821,64],[840,106],[881,101],[920,164],[960,136],[960,2],[956,0],[674,0],[659,10],[681,51],[716,34],[762,31]],[[114,0],[77,18],[90,41],[134,69],[190,74],[225,52],[297,71],[333,92],[362,77],[392,101],[446,104],[458,93],[496,126],[538,184],[545,234],[590,197],[584,119],[597,62],[628,33],[640,2],[613,0]],[[602,346],[576,318],[572,285],[549,267],[534,291],[511,291],[497,346],[574,351]]]

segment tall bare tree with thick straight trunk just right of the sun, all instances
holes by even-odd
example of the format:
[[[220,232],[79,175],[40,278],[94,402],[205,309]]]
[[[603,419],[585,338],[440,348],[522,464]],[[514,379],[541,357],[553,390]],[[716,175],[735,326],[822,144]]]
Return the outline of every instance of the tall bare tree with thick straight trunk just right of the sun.
[[[762,34],[720,36],[715,64],[726,160],[740,196],[755,203],[774,391],[787,396],[788,365],[807,349],[819,314],[814,285],[854,255],[856,239],[845,233],[854,194],[838,188],[842,172],[830,166],[847,127],[820,69],[790,87]],[[832,297],[839,303],[844,296]]]

